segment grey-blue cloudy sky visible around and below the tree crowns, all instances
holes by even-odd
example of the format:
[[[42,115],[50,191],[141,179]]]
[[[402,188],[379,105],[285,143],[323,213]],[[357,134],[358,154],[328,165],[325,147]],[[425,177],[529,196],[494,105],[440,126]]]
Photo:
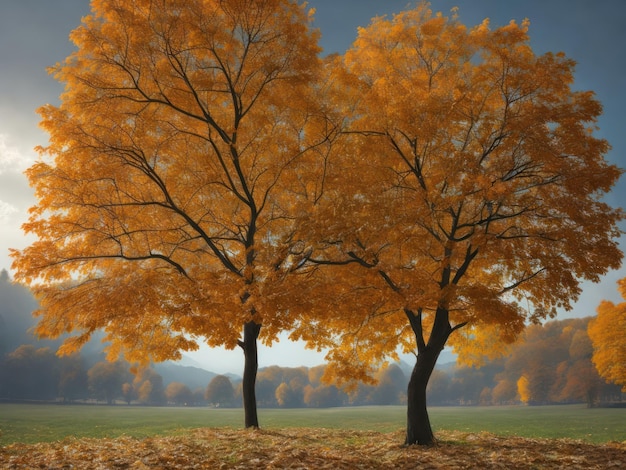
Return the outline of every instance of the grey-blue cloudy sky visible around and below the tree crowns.
[[[316,9],[324,54],[343,53],[356,38],[358,26],[414,5],[408,0],[310,0]],[[564,52],[577,62],[574,87],[593,90],[604,112],[596,134],[612,146],[607,159],[626,168],[626,2],[623,0],[431,0],[431,8],[449,14],[459,7],[460,21],[474,26],[489,18],[492,27],[511,20],[530,20],[531,45],[537,54]],[[32,239],[21,231],[28,208],[35,204],[23,172],[37,158],[34,148],[45,145],[36,109],[58,104],[62,86],[46,67],[62,61],[73,50],[71,30],[90,11],[88,0],[0,0],[0,269],[10,269],[9,248],[24,248]],[[607,201],[626,206],[626,175]],[[626,229],[626,225],[623,226]],[[623,238],[626,247],[626,238]],[[599,284],[583,284],[573,311],[559,318],[595,314],[602,299],[620,302],[616,281],[626,268],[609,273]],[[1,300],[1,299],[0,299]],[[237,373],[243,367],[240,351],[204,349],[189,357],[214,372]],[[261,348],[261,367],[313,366],[323,355],[306,351],[300,343],[282,340]]]

